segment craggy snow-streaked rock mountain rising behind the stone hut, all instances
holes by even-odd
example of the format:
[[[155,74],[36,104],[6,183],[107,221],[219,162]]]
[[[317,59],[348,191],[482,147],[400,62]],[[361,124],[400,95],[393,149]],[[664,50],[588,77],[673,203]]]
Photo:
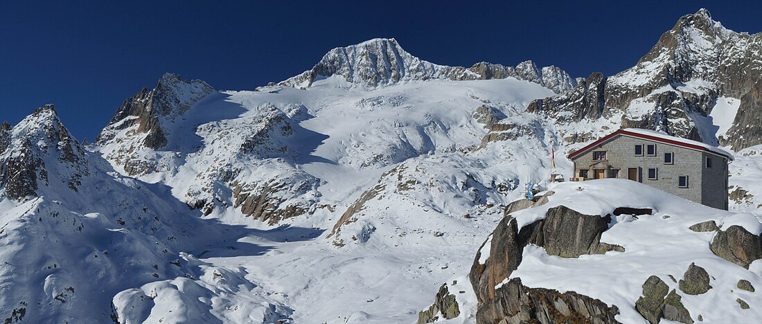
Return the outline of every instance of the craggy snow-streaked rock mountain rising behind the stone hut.
[[[762,34],[736,33],[701,9],[677,21],[636,66],[606,77],[598,72],[562,95],[533,101],[527,111],[559,125],[608,120],[619,127],[660,130],[673,136],[731,146],[738,151],[762,143]],[[726,133],[703,127],[720,99],[740,99]],[[732,112],[728,112],[732,114]],[[602,135],[568,129],[571,143]]]

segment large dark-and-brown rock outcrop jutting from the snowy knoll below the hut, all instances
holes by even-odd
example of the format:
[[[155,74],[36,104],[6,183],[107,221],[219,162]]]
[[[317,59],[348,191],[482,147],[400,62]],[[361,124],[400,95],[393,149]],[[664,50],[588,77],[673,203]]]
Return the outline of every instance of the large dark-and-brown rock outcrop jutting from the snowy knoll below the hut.
[[[605,253],[615,249],[615,245],[600,242],[600,235],[607,229],[609,221],[610,217],[584,215],[564,206],[550,208],[544,220],[538,220],[521,229],[517,228],[517,222],[513,217],[504,217],[492,232],[489,257],[485,263],[480,263],[484,248],[482,245],[469,273],[479,301],[477,320],[497,322],[515,315],[511,313],[512,309],[506,308],[508,301],[505,300],[516,298],[510,297],[515,291],[510,293],[504,290],[503,293],[498,293],[495,286],[510,277],[511,272],[518,268],[524,246],[533,243],[544,247],[549,255],[565,258]],[[588,319],[593,320],[592,317]]]

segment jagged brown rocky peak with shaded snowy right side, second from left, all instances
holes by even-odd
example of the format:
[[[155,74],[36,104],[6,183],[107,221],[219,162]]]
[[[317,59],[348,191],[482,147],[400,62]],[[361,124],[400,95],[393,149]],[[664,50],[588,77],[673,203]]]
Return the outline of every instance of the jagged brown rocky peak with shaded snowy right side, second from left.
[[[109,124],[98,134],[96,143],[105,145],[114,140],[120,130],[134,128],[133,134],[146,134],[143,145],[160,149],[167,144],[167,124],[213,91],[214,88],[207,82],[187,81],[180,75],[165,73],[158,79],[155,88],[142,88],[122,103]]]

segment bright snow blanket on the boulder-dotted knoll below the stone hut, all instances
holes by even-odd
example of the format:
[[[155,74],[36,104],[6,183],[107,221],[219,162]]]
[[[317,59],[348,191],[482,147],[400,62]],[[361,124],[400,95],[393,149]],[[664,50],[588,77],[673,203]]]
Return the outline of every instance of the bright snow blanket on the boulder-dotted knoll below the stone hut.
[[[560,258],[530,245],[524,249],[523,261],[511,277],[520,277],[528,287],[573,290],[616,305],[621,313],[616,319],[620,322],[644,322],[634,305],[642,296],[642,284],[652,275],[661,277],[670,289],[677,289],[694,320],[699,315],[704,322],[762,319],[760,307],[741,310],[736,302],[741,298],[749,305],[762,304],[762,294],[736,287],[741,279],[750,281],[754,287],[762,285],[762,260],[754,261],[748,270],[735,265],[709,249],[714,232],[689,229],[696,223],[714,220],[722,230],[739,225],[759,235],[762,223],[754,215],[705,207],[623,179],[570,182],[550,189],[555,194],[549,197],[548,204],[514,213],[519,224],[543,217],[546,210],[559,205],[588,215],[605,216],[617,207],[649,208],[653,214],[614,217],[600,240],[620,245],[625,252]],[[711,277],[712,289],[705,294],[683,294],[677,282],[669,277],[679,281],[691,263],[705,268]]]

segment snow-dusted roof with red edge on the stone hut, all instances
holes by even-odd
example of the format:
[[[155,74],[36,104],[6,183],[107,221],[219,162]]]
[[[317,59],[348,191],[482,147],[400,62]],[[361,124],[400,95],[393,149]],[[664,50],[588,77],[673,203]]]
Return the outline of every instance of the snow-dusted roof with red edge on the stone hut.
[[[665,133],[657,132],[655,130],[643,130],[640,128],[626,128],[623,130],[617,130],[616,132],[610,133],[607,136],[604,136],[604,138],[597,140],[593,143],[591,143],[588,146],[584,146],[581,149],[578,149],[575,152],[572,152],[569,154],[569,159],[574,159],[577,156],[580,156],[584,152],[588,152],[591,149],[594,149],[595,147],[606,143],[610,140],[613,140],[617,135],[622,136],[630,136],[630,137],[637,137],[644,140],[652,140],[654,142],[659,143],[667,143],[675,146],[682,146],[687,149],[694,149],[696,151],[706,151],[706,152],[712,152],[718,156],[724,156],[725,158],[728,158],[728,160],[733,160],[733,155],[731,152],[726,151],[725,149],[720,149],[719,147],[711,146],[706,143],[701,143],[695,140],[687,140],[680,137],[670,136]]]

